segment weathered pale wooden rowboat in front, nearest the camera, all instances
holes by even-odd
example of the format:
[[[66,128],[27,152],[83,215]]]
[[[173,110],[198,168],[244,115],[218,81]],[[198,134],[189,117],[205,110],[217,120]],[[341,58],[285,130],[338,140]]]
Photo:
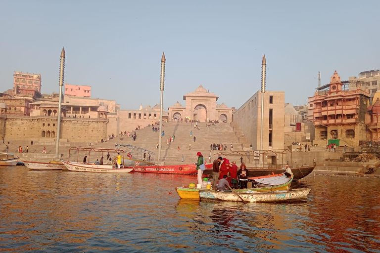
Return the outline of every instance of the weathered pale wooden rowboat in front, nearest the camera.
[[[201,201],[236,201],[241,199],[246,202],[292,202],[306,200],[309,194],[309,188],[294,189],[290,191],[274,192],[218,192],[209,190],[200,190],[199,198]]]

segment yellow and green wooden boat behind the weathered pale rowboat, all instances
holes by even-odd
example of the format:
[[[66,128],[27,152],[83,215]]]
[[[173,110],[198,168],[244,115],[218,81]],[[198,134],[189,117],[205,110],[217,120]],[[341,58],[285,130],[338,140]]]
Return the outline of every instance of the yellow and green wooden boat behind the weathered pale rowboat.
[[[255,191],[255,192],[267,192],[267,191],[276,191],[276,190],[289,190],[291,181],[293,177],[285,177],[286,180],[284,180],[279,185],[267,185],[267,186],[260,186],[257,185],[256,188],[250,188],[250,189],[235,189],[236,192],[244,193],[246,191]],[[175,188],[178,195],[181,199],[199,199],[199,191],[202,189],[191,189],[186,187],[176,187]],[[204,190],[204,189],[203,189]],[[209,190],[209,191],[215,191],[216,190]]]

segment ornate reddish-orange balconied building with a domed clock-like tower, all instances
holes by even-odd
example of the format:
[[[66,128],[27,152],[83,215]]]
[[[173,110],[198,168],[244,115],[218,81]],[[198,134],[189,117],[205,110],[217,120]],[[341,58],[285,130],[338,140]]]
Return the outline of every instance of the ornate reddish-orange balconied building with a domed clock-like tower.
[[[313,144],[358,146],[366,140],[368,90],[358,85],[349,90],[335,71],[331,82],[309,97],[309,119],[315,126]]]

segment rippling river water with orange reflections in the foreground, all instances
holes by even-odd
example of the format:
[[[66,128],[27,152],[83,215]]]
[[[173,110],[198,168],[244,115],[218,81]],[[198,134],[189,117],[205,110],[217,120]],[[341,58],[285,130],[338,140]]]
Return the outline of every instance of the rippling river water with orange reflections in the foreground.
[[[196,176],[0,169],[0,252],[380,252],[380,178],[312,173],[291,204],[181,200]]]

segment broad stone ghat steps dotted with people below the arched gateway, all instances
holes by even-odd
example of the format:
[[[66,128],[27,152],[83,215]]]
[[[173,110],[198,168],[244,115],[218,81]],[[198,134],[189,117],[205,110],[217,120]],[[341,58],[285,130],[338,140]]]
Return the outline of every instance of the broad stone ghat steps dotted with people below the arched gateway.
[[[206,123],[198,123],[199,130],[192,127],[193,124],[190,123],[180,123],[180,122],[168,122],[163,123],[162,129],[165,135],[161,140],[161,157],[166,165],[181,164],[182,155],[184,155],[184,163],[194,163],[196,162],[196,153],[201,152],[205,159],[208,160],[210,153],[210,144],[212,143],[222,143],[226,144],[226,151],[230,151],[230,145],[234,147],[234,151],[242,150],[239,144],[238,138],[235,136],[233,128],[229,124],[217,123],[215,126],[206,127]],[[155,125],[155,127],[158,127]],[[190,136],[190,131],[192,131],[192,136]],[[131,131],[132,133],[134,131]],[[141,130],[136,131],[137,138],[133,141],[132,138],[127,137],[127,135],[116,136],[104,143],[91,143],[92,148],[109,148],[114,149],[115,143],[121,144],[131,144],[138,146],[147,150],[154,152],[154,158],[156,160],[158,156],[158,149],[156,149],[156,143],[158,142],[159,132],[153,132],[151,127],[144,127]],[[173,142],[167,144],[167,139],[170,136],[175,135]],[[193,141],[193,137],[196,137],[196,141]],[[123,138],[121,140],[121,138]],[[6,143],[6,142],[5,142]],[[62,159],[67,159],[69,148],[74,146],[89,147],[88,142],[82,143],[60,143],[59,153],[62,154]],[[189,149],[189,144],[191,144],[191,150]],[[9,146],[9,152],[15,153],[16,156],[20,156],[24,160],[40,161],[43,159],[52,159],[55,154],[55,143],[54,142],[35,142],[34,145],[30,145],[27,141],[11,141]],[[17,153],[18,146],[22,146],[23,153]],[[29,146],[29,153],[25,153],[26,146]],[[42,151],[46,146],[47,154],[42,154]],[[180,147],[180,150],[178,150]],[[119,146],[120,148],[120,146]],[[5,145],[0,145],[0,151],[5,150]],[[212,160],[216,158],[219,151],[212,150]],[[95,157],[94,157],[95,158]],[[94,161],[91,161],[94,162]]]

